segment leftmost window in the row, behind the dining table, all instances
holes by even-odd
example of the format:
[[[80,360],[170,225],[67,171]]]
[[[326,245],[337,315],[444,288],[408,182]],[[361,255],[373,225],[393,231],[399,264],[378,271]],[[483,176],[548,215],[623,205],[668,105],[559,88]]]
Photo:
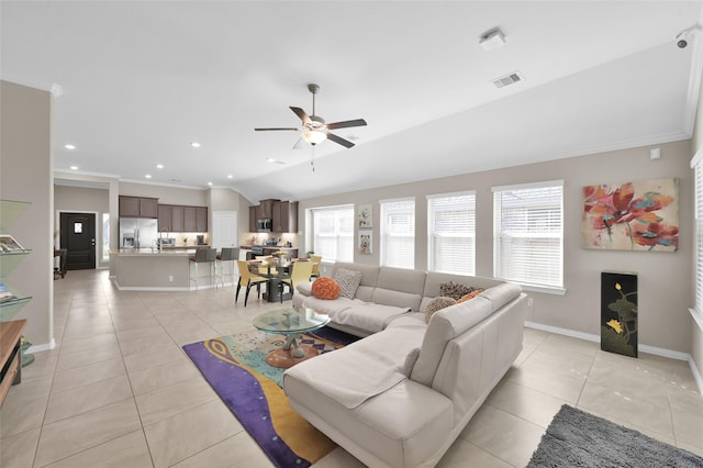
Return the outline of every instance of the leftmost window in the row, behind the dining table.
[[[312,210],[313,250],[327,261],[354,261],[354,205]]]

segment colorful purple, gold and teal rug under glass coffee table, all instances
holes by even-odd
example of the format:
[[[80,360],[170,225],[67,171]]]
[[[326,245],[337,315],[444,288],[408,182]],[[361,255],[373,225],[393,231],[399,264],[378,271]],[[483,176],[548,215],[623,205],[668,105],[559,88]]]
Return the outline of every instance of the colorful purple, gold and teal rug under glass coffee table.
[[[357,339],[324,327],[303,335],[302,343],[328,353]],[[280,387],[284,369],[266,364],[268,353],[283,342],[281,335],[253,331],[192,343],[183,349],[274,465],[309,467],[336,445],[290,408]]]

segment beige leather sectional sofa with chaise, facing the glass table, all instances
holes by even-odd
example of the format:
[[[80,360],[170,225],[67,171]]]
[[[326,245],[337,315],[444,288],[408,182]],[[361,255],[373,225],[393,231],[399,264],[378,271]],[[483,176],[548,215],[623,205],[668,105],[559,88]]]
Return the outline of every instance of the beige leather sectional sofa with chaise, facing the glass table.
[[[301,285],[293,302],[326,310],[333,326],[366,337],[288,369],[290,404],[368,466],[434,466],[520,354],[527,298],[488,278],[338,268],[361,271],[354,298],[321,303]],[[424,309],[447,281],[486,290],[426,324]]]

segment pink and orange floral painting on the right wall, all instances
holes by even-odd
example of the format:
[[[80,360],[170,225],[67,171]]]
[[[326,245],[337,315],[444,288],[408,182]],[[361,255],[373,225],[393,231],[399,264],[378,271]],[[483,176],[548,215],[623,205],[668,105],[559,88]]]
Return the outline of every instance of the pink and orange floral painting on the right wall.
[[[678,250],[678,179],[583,187],[581,244],[614,250]]]

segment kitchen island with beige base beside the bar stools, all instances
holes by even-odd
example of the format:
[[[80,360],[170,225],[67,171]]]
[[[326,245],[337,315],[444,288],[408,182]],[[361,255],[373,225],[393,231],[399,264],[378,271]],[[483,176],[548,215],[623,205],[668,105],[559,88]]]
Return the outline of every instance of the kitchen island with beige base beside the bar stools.
[[[190,261],[194,254],[196,247],[161,252],[150,248],[112,250],[110,274],[121,290],[188,291],[191,289],[191,275],[196,274]],[[200,288],[211,288],[212,283],[205,275],[210,265],[200,265],[198,285]]]

